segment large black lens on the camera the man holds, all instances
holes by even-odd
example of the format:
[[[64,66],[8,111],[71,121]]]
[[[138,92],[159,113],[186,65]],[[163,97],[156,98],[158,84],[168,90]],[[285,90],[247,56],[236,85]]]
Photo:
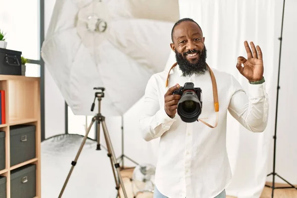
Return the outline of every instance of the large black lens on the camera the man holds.
[[[201,114],[201,102],[193,91],[185,91],[177,104],[177,113],[184,122],[195,122]]]

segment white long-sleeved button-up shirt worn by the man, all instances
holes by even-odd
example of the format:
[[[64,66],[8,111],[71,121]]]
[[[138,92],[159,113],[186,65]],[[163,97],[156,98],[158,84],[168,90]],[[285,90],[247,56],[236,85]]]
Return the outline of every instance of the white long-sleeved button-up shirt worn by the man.
[[[157,189],[169,198],[214,198],[232,178],[226,149],[227,110],[252,132],[263,132],[267,125],[268,97],[265,82],[249,84],[249,97],[231,75],[211,68],[217,83],[219,98],[218,125],[210,128],[198,122],[183,122],[176,113],[171,119],[164,110],[164,95],[178,83],[193,82],[202,90],[203,121],[214,126],[212,83],[210,73],[184,77],[178,65],[165,81],[168,71],[151,76],[145,91],[140,130],[146,141],[160,137],[155,173]]]

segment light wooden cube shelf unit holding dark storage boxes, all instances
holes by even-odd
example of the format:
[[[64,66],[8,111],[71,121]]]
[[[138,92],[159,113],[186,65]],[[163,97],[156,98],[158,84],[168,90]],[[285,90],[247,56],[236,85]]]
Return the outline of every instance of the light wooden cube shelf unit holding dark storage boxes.
[[[41,198],[41,128],[40,128],[40,78],[16,75],[0,75],[0,90],[5,91],[5,119],[0,131],[5,132],[5,169],[0,176],[6,177],[6,193],[10,198],[10,171],[27,164],[36,164],[36,197]],[[10,166],[9,127],[19,124],[36,126],[36,157]]]

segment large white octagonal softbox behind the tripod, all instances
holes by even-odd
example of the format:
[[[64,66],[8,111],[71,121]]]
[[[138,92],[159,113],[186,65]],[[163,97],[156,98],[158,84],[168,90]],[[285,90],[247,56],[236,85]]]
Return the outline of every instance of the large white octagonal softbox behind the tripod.
[[[178,19],[178,0],[56,0],[42,57],[74,114],[93,115],[104,87],[102,114],[123,115],[164,70]]]

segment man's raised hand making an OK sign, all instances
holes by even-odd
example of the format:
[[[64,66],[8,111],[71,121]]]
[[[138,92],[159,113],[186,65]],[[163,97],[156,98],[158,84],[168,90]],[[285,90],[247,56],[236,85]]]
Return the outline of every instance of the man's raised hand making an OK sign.
[[[245,47],[247,51],[247,59],[243,56],[237,58],[237,69],[239,72],[247,78],[249,82],[259,81],[263,78],[264,67],[262,59],[262,51],[259,46],[255,48],[253,42],[250,42],[252,52],[245,41]],[[244,67],[242,66],[244,65]]]

